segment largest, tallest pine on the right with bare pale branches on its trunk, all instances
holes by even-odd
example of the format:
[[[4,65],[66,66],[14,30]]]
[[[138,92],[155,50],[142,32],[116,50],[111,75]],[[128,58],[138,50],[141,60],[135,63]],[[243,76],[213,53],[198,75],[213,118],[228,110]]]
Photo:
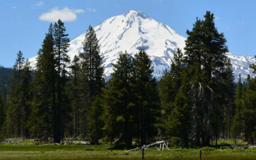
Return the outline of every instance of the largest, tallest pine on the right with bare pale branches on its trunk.
[[[200,92],[202,98],[195,99],[195,95],[191,99],[196,102],[193,116],[200,117],[193,120],[194,125],[202,126],[196,129],[196,145],[200,145],[200,136],[203,145],[210,145],[212,125],[218,127],[220,123],[218,108],[223,104],[219,104],[218,100],[214,101],[214,97],[220,95],[220,84],[223,81],[222,75],[227,59],[225,52],[228,51],[227,40],[215,27],[214,15],[206,12],[204,18],[204,20],[196,19],[192,31],[187,31],[188,39],[185,47],[185,64],[189,68],[188,76],[191,77],[190,83],[194,90],[191,93],[197,94],[198,88],[204,90]],[[218,132],[218,129],[215,131]]]

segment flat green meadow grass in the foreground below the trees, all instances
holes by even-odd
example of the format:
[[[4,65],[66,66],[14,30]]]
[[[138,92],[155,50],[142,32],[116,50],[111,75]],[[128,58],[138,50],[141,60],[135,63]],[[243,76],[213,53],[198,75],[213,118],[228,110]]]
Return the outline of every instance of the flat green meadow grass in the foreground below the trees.
[[[108,150],[109,145],[35,145],[2,144],[0,159],[141,159],[141,151],[126,153],[124,150]],[[203,148],[203,159],[256,159],[256,148],[216,149]],[[146,150],[145,159],[199,159],[199,149],[176,151]]]

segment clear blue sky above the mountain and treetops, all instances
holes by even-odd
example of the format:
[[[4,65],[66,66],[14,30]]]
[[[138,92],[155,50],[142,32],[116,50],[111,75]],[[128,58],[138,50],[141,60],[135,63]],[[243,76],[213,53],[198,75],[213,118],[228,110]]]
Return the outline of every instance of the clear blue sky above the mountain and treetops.
[[[209,10],[216,16],[216,27],[225,34],[230,52],[254,56],[255,6],[253,0],[1,0],[0,65],[12,67],[19,50],[25,58],[36,56],[49,20],[56,14],[66,14],[65,26],[72,39],[86,32],[90,24],[95,27],[129,10],[140,10],[183,36],[196,17],[202,19]]]

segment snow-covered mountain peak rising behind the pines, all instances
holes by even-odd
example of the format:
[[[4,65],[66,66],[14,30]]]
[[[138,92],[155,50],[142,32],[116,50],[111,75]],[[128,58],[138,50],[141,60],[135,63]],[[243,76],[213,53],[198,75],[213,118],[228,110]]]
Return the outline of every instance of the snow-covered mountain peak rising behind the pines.
[[[104,56],[107,78],[113,72],[111,63],[116,63],[119,54],[127,51],[133,56],[138,49],[144,49],[152,60],[154,76],[159,79],[165,68],[170,69],[175,50],[178,47],[180,49],[185,47],[186,37],[137,10],[104,20],[94,29],[99,39],[100,51]],[[83,51],[82,42],[85,34],[71,40],[68,51],[71,60],[79,51]],[[243,78],[246,78],[247,74],[252,74],[249,64],[255,62],[253,57],[234,56],[231,53],[227,56],[232,61],[236,79],[239,73]],[[31,58],[30,61],[35,65],[35,58]]]

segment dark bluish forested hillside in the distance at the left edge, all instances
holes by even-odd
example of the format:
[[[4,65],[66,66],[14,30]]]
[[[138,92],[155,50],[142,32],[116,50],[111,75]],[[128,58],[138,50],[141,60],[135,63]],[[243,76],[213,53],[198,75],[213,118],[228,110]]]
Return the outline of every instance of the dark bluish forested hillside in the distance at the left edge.
[[[9,86],[12,82],[13,68],[0,66],[0,94],[6,102]]]

